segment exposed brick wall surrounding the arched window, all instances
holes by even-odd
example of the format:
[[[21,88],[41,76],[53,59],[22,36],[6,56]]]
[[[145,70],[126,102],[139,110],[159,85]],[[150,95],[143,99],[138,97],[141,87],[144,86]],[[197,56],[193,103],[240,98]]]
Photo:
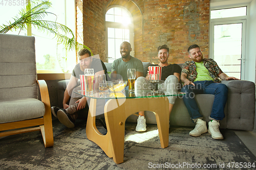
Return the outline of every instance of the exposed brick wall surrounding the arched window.
[[[81,5],[83,4],[83,7]],[[121,5],[134,20],[135,57],[158,63],[157,47],[167,44],[170,63],[187,61],[187,48],[197,43],[208,58],[209,0],[77,0],[77,35],[105,61],[106,8]],[[82,23],[81,23],[82,20]],[[82,34],[83,33],[83,34]]]

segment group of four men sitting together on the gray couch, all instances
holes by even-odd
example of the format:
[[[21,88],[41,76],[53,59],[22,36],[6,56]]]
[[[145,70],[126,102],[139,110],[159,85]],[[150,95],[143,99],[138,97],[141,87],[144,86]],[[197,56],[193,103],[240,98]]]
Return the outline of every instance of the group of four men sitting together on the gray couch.
[[[98,75],[106,75],[107,80],[116,80],[118,75],[123,80],[127,80],[127,69],[136,69],[135,89],[147,90],[151,88],[148,74],[143,77],[142,62],[130,55],[132,51],[129,42],[122,42],[120,45],[121,58],[116,59],[111,66],[111,76],[104,63],[100,59],[91,57],[91,52],[87,49],[79,51],[79,63],[72,71],[70,81],[64,93],[63,109],[52,107],[52,114],[59,119],[59,121],[68,128],[75,127],[75,120],[79,112],[82,112],[87,106],[87,98],[74,94],[74,89],[77,87],[79,75],[84,74],[85,68],[94,68],[95,77]],[[190,136],[200,136],[203,133],[209,132],[214,139],[223,139],[223,135],[219,130],[219,121],[225,117],[224,107],[227,102],[228,89],[225,84],[220,83],[221,80],[238,80],[234,77],[227,76],[213,59],[203,58],[202,51],[197,44],[188,47],[188,57],[190,61],[186,61],[182,68],[177,64],[169,64],[169,48],[167,45],[161,45],[157,48],[159,64],[162,67],[161,80],[159,81],[159,90],[166,93],[176,93],[179,89],[180,80],[183,82],[181,92],[186,94],[183,96],[183,102],[188,110],[188,113],[196,124],[194,130],[189,132]],[[95,82],[97,86],[97,81]],[[127,87],[126,87],[127,88]],[[206,121],[199,112],[197,102],[194,98],[195,94],[214,94],[215,99],[212,105],[211,113],[209,115],[210,122],[208,129]],[[168,96],[169,100],[169,114],[172,112],[176,97]],[[69,104],[68,104],[69,102]],[[137,119],[136,131],[146,131],[146,118],[144,111],[139,112]]]

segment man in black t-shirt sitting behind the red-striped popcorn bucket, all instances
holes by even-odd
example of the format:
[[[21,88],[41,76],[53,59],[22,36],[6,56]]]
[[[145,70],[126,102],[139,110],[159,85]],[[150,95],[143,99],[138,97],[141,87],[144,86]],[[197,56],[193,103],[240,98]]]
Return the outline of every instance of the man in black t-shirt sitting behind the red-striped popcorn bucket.
[[[175,93],[178,91],[181,68],[178,64],[169,64],[169,48],[167,45],[161,45],[157,48],[159,64],[154,64],[150,66],[160,66],[162,67],[161,80],[159,81],[159,90],[164,91],[165,93]],[[150,81],[148,74],[144,77],[139,77],[135,81],[135,90],[150,90]],[[169,114],[172,112],[176,96],[168,96],[169,100]],[[144,111],[139,112],[139,118],[137,120],[136,126],[137,132],[146,131],[146,119]]]

